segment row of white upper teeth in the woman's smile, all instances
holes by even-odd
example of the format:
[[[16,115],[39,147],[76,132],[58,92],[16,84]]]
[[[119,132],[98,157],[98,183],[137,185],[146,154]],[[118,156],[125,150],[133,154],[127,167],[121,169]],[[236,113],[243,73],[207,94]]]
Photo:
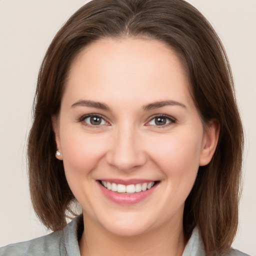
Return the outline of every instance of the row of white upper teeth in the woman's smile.
[[[108,190],[117,191],[118,193],[135,193],[150,189],[154,185],[154,182],[123,185],[108,181],[101,181],[101,184]]]

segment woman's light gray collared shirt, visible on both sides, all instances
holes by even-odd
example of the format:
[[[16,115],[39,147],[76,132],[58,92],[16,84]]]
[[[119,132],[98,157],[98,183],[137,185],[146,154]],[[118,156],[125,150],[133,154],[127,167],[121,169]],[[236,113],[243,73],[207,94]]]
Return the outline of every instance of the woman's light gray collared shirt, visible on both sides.
[[[77,229],[82,216],[75,217],[62,230],[29,240],[6,245],[0,248],[0,256],[80,256]],[[197,228],[194,228],[182,256],[204,256],[203,243]],[[227,255],[248,256],[231,249]]]

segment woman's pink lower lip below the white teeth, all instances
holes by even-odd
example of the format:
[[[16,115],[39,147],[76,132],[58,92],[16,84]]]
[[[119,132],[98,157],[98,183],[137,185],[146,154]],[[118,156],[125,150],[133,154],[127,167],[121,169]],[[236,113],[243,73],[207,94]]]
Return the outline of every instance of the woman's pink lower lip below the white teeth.
[[[154,191],[155,187],[158,185],[158,183],[157,183],[154,186],[152,186],[150,189],[147,189],[145,191],[135,192],[132,194],[124,194],[124,193],[118,193],[118,192],[114,192],[112,190],[108,190],[103,185],[101,185],[100,182],[97,182],[97,183],[99,185],[99,188],[103,192],[103,194],[108,199],[110,199],[111,201],[113,201],[115,203],[119,203],[119,204],[138,203],[138,202],[142,201],[143,199],[145,199],[146,197],[148,197]]]

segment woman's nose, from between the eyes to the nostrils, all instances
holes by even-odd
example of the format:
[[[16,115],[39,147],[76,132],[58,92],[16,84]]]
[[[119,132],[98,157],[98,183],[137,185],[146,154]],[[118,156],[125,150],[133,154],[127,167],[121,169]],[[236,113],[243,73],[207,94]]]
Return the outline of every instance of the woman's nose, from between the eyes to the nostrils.
[[[121,171],[134,170],[146,162],[146,154],[138,132],[130,126],[120,127],[110,142],[107,163]]]

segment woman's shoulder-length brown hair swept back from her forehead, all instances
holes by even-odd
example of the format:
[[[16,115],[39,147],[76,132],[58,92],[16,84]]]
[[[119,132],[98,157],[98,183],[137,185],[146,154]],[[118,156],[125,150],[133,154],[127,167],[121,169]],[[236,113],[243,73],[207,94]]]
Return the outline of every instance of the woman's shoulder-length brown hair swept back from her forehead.
[[[99,38],[144,36],[165,42],[184,62],[191,95],[204,123],[215,118],[220,134],[209,164],[200,166],[185,201],[186,240],[196,225],[206,254],[225,252],[238,219],[242,125],[224,48],[208,21],[184,0],[92,0],[78,9],[52,40],[42,61],[28,138],[32,203],[42,223],[66,224],[74,196],[63,164],[55,158],[51,117],[58,114],[73,58]]]

